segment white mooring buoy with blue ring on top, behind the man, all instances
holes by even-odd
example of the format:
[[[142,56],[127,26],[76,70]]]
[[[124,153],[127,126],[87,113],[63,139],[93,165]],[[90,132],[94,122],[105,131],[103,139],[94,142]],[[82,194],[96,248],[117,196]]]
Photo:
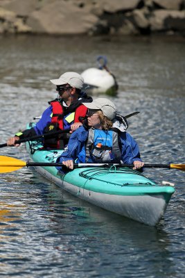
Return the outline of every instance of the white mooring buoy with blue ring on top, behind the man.
[[[107,58],[98,56],[97,61],[98,68],[90,67],[81,74],[85,81],[85,91],[91,94],[115,95],[118,90],[118,84],[114,74],[107,68]]]

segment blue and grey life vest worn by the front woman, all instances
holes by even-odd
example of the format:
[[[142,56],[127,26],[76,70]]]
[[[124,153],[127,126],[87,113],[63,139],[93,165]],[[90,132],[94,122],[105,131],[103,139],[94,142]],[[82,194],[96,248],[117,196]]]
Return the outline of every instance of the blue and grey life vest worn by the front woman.
[[[118,132],[89,129],[87,142],[78,161],[82,163],[119,163],[121,161],[121,147]]]

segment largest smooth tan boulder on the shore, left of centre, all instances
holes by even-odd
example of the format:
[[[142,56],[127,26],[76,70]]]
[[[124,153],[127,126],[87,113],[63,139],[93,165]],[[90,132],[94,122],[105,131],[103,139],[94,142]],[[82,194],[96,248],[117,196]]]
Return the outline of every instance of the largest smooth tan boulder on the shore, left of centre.
[[[87,33],[98,22],[88,8],[79,8],[69,1],[55,1],[30,14],[27,24],[34,33],[82,34]]]

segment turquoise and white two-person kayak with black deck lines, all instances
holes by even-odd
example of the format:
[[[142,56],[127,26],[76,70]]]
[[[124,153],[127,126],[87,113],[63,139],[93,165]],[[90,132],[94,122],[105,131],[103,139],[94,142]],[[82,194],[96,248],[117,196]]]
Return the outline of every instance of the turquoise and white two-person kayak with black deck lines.
[[[26,143],[34,162],[53,162],[62,153]],[[81,167],[61,174],[55,167],[35,167],[44,177],[91,204],[154,226],[164,215],[174,188],[159,186],[128,168]]]

